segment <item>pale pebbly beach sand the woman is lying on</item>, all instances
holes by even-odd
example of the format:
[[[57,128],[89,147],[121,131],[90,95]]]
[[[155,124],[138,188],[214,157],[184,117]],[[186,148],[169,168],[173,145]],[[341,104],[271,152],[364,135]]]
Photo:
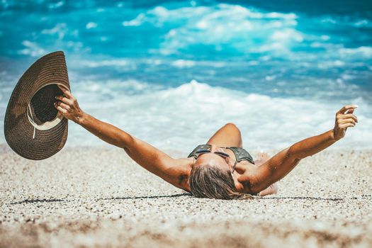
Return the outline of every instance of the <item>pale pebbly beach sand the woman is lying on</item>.
[[[329,150],[300,162],[275,196],[223,201],[194,198],[123,150],[35,162],[3,145],[0,247],[372,247],[371,178],[371,150]]]

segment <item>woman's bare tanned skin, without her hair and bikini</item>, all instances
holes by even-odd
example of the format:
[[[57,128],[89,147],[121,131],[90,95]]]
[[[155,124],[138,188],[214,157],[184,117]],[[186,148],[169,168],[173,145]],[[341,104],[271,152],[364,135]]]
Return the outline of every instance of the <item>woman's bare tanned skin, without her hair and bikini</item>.
[[[174,159],[147,142],[85,113],[79,107],[77,99],[67,89],[62,86],[60,89],[64,95],[57,96],[59,101],[55,104],[55,108],[64,115],[64,118],[81,125],[101,140],[123,148],[137,164],[147,171],[185,191],[190,191],[188,177],[193,167],[209,164],[232,169],[235,156],[231,150],[224,147],[242,147],[239,129],[234,124],[227,123],[208,140],[207,144],[211,145],[210,153],[202,154],[196,160],[193,158]],[[237,191],[259,193],[259,196],[276,193],[276,181],[283,179],[301,159],[325,150],[334,142],[342,139],[347,128],[354,127],[358,123],[354,115],[356,108],[356,105],[342,107],[336,113],[332,130],[301,140],[270,159],[261,157],[255,164],[247,161],[237,163],[232,174]],[[226,152],[230,154],[230,157],[224,159],[214,154],[215,151]]]

